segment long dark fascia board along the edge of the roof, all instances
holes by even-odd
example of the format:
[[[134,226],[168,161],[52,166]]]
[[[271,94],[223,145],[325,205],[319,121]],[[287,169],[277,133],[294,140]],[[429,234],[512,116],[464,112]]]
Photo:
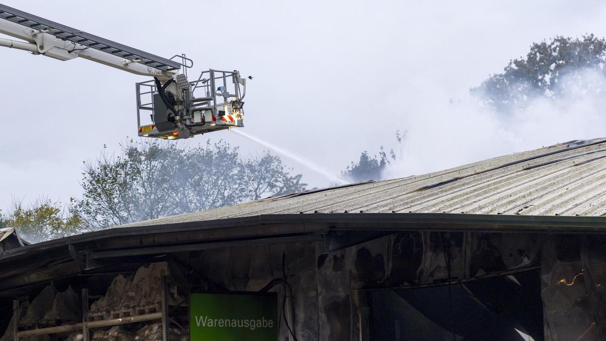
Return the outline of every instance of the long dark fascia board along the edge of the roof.
[[[549,233],[606,233],[606,217],[479,215],[451,213],[331,213],[331,214],[271,214],[244,218],[225,218],[165,225],[142,225],[128,228],[109,228],[87,232],[0,253],[0,262],[7,258],[85,243],[105,238],[175,234],[225,228],[247,228],[280,225],[276,234],[288,234],[285,226],[296,226],[296,231],[318,232],[321,229],[369,229],[376,231],[478,231],[478,232],[549,232]],[[252,231],[251,231],[252,232]],[[267,235],[267,234],[266,234]],[[258,237],[262,237],[259,235]],[[226,237],[226,240],[229,238]]]

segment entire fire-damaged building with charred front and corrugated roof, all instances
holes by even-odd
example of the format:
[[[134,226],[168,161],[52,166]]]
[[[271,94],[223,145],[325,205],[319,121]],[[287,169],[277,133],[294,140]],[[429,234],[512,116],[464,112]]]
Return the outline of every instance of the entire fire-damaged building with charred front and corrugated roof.
[[[204,294],[275,340],[606,339],[605,184],[606,140],[571,141],[13,243],[0,340],[202,340]]]

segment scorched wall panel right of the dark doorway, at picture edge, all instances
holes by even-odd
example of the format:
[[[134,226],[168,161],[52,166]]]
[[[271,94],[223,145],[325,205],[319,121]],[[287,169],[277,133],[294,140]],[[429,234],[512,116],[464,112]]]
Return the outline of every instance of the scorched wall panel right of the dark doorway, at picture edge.
[[[548,340],[606,339],[606,237],[546,235],[542,300]]]

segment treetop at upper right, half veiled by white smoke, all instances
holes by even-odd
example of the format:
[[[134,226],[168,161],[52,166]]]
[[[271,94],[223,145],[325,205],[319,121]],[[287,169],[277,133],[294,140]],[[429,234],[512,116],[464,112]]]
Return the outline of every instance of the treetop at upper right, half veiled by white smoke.
[[[535,42],[524,57],[513,59],[503,73],[491,75],[479,87],[471,89],[485,104],[501,112],[525,107],[537,96],[558,98],[568,89],[562,80],[579,70],[604,72],[606,40],[594,35],[579,38],[557,36],[550,41]],[[593,91],[604,92],[603,85],[584,84]]]

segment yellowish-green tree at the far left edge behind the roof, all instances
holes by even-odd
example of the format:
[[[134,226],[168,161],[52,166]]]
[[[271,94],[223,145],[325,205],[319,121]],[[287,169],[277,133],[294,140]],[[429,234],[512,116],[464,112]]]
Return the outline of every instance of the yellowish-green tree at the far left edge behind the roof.
[[[13,206],[12,212],[7,217],[0,217],[0,220],[4,226],[15,228],[19,236],[30,243],[86,231],[84,221],[78,215],[67,214],[61,203],[37,200],[29,206],[21,202]]]

